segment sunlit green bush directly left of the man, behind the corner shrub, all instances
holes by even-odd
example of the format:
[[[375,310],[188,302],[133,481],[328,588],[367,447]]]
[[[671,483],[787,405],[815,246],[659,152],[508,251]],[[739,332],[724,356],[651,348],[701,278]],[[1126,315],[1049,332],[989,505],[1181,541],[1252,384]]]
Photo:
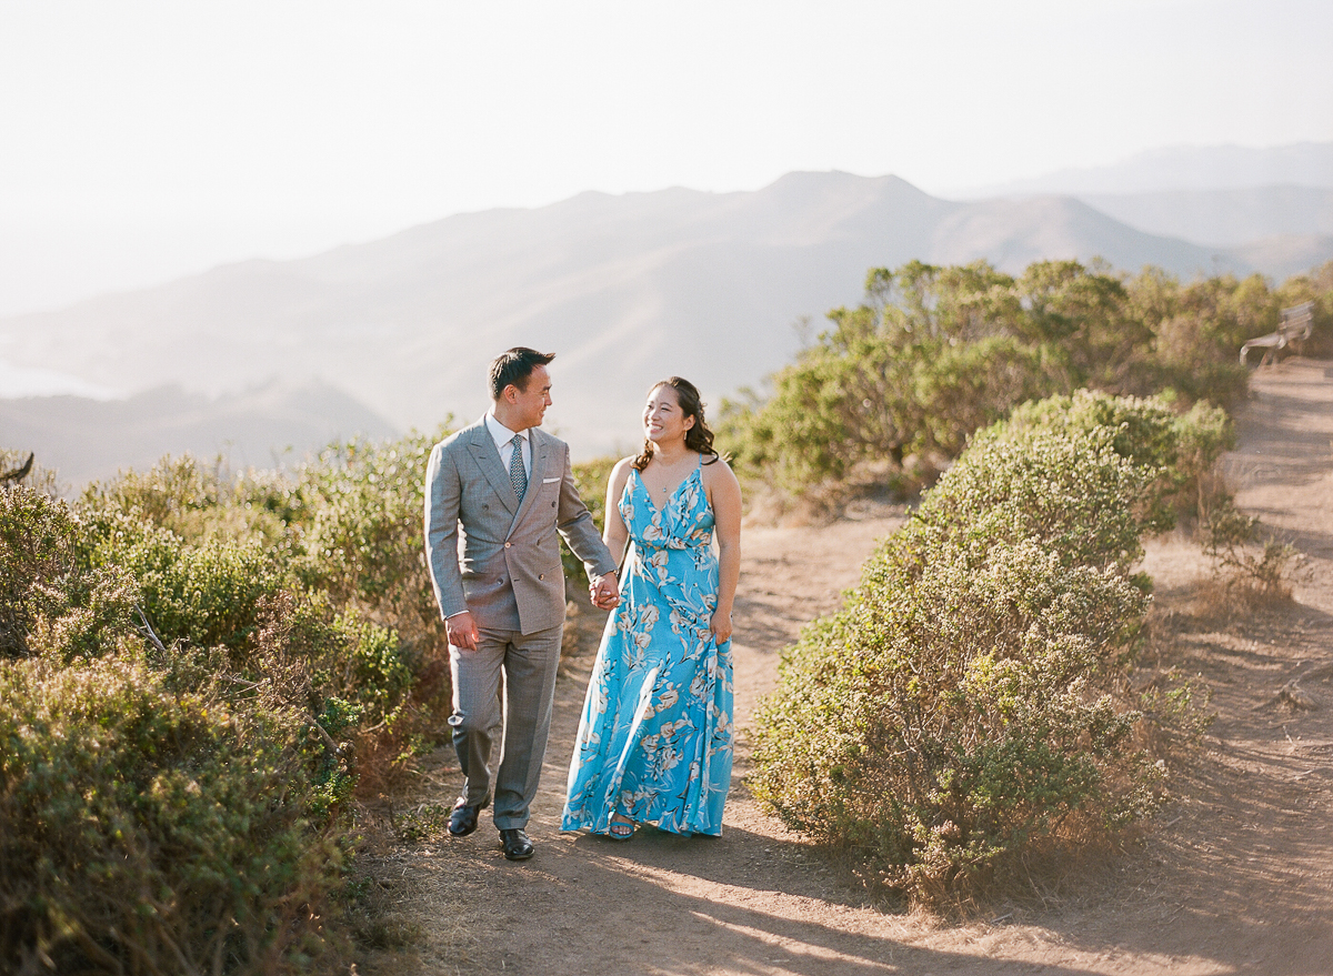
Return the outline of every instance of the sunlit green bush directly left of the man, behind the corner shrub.
[[[236,477],[164,459],[84,493],[88,561],[139,580],[175,684],[201,687],[221,648],[227,680],[281,687],[349,729],[360,772],[384,773],[444,728],[449,701],[421,543],[432,444],[335,444],[295,472]]]

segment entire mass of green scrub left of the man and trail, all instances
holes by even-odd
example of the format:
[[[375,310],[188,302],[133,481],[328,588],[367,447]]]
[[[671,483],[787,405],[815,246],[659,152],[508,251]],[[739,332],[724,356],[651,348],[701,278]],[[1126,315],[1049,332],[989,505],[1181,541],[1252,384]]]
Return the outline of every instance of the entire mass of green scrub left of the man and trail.
[[[0,491],[0,968],[340,956],[349,801],[447,729],[432,443]]]

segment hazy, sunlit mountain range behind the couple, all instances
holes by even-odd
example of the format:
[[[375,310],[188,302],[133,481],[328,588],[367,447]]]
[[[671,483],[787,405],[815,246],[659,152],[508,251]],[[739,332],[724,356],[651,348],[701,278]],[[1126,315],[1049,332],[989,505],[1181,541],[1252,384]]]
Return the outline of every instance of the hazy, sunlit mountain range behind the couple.
[[[449,413],[480,416],[487,363],[507,347],[533,345],[559,353],[548,425],[587,457],[636,443],[641,397],[661,376],[694,380],[713,408],[762,383],[796,352],[793,324],[857,303],[870,267],[986,259],[1018,272],[1045,257],[1100,256],[1186,279],[1285,275],[1293,263],[1304,269],[1333,257],[1326,195],[1309,199],[1324,215],[1313,223],[1301,223],[1300,193],[1272,211],[1288,215],[1277,223],[1261,219],[1262,200],[1253,217],[1217,217],[1217,240],[1268,237],[1221,247],[1136,229],[1069,196],[950,201],[893,176],[792,173],[737,193],[584,193],[0,320],[0,380],[59,371],[121,395],[176,384],[215,397],[273,381],[320,384],[399,431],[432,429]],[[1189,196],[1174,211],[1168,204],[1126,197],[1105,208],[1136,220],[1177,212],[1170,225],[1181,228],[1192,207],[1206,209]],[[56,409],[28,403],[39,413]],[[176,409],[159,408],[160,451],[183,449],[168,436]],[[19,443],[12,416],[0,417],[0,443],[40,449]],[[105,441],[97,417],[116,416],[89,412],[87,436]],[[283,440],[275,427],[273,447],[287,445],[315,443]],[[267,460],[247,449],[252,463],[256,455]]]

